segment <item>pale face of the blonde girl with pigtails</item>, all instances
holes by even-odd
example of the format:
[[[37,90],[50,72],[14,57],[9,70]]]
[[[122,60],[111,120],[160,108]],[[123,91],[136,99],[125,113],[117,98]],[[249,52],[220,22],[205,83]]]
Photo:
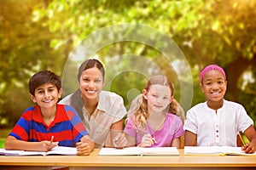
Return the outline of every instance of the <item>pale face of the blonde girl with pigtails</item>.
[[[172,92],[168,86],[154,84],[149,90],[143,90],[143,97],[148,100],[148,112],[161,112],[172,102]]]

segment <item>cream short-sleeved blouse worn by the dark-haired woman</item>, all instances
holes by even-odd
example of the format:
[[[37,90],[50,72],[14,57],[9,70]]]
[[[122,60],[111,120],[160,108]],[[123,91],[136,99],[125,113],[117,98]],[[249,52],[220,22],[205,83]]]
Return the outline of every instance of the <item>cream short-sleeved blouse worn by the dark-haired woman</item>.
[[[59,103],[70,105],[71,96],[72,94],[61,99]],[[96,111],[90,116],[83,106],[82,112],[84,118],[81,118],[90,138],[94,140],[96,147],[101,147],[107,140],[111,125],[114,122],[119,122],[127,111],[122,97],[113,92],[102,91]]]

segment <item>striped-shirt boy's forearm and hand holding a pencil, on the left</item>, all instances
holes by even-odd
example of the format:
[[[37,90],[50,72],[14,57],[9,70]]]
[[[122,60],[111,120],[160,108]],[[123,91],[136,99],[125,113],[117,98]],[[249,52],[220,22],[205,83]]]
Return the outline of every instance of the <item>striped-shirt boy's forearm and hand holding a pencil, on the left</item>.
[[[36,150],[36,151],[49,151],[58,145],[58,142],[51,143],[50,141],[41,142],[26,142],[18,140],[13,136],[8,136],[5,141],[6,150]]]

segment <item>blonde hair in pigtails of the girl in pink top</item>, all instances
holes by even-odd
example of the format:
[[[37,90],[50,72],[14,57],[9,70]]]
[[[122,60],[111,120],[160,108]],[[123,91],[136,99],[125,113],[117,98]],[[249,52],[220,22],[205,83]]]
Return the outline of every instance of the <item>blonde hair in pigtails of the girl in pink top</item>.
[[[174,88],[172,82],[168,80],[165,76],[154,76],[150,77],[145,90],[149,90],[152,85],[160,84],[168,86],[171,89],[171,96],[174,95]],[[172,103],[166,108],[166,112],[175,114],[181,118],[184,122],[184,111],[183,108],[177,103],[176,99],[172,99]],[[143,133],[147,127],[147,119],[148,119],[148,102],[143,98],[143,94],[139,94],[135,99],[132,100],[130,109],[127,112],[127,118],[131,118],[135,128],[137,129],[137,133]]]

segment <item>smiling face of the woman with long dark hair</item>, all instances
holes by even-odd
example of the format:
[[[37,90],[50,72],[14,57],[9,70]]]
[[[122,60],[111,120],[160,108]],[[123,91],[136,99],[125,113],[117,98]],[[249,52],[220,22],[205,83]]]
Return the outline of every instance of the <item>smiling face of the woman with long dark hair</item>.
[[[104,78],[102,72],[97,67],[92,67],[82,72],[80,77],[80,90],[84,99],[98,99],[103,86]]]

